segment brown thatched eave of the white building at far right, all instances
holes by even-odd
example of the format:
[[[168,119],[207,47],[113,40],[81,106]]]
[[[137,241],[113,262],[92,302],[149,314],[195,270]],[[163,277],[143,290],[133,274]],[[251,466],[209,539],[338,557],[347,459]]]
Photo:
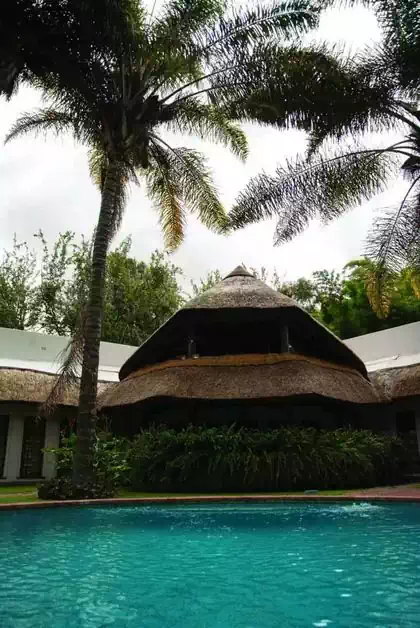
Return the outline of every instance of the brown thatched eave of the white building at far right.
[[[376,371],[370,378],[383,401],[420,396],[420,364]]]

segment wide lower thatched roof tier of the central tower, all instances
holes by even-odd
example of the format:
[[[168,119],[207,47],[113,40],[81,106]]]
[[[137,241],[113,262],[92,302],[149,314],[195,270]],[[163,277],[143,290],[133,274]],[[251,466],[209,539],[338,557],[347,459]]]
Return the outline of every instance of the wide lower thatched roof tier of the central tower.
[[[319,396],[377,403],[356,369],[297,354],[237,355],[169,360],[139,369],[99,398],[101,409],[147,399],[275,400]]]

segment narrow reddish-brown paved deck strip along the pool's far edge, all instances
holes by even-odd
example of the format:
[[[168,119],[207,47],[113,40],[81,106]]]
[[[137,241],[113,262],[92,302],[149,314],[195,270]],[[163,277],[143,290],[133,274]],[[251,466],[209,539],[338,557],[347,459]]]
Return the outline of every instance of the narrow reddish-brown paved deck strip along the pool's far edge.
[[[36,501],[0,504],[0,510],[28,508],[61,508],[66,506],[129,506],[135,504],[188,504],[223,502],[420,502],[420,488],[391,486],[351,491],[344,495],[261,494],[261,495],[202,495],[185,497],[115,497],[109,499],[80,499],[67,501]]]

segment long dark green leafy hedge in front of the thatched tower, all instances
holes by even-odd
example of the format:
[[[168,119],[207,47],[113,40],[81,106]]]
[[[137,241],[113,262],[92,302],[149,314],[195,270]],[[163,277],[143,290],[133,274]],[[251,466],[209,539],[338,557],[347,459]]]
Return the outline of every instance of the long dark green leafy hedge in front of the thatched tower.
[[[395,437],[300,427],[151,429],[130,458],[133,489],[173,492],[378,486],[401,481],[405,464]]]

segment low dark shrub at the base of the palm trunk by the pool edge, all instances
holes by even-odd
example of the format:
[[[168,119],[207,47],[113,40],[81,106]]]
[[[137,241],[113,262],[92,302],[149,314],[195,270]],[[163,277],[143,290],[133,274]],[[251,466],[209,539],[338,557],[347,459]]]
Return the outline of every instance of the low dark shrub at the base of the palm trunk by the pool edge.
[[[44,482],[38,489],[40,499],[100,499],[114,497],[116,487],[102,480],[74,484],[71,477],[54,478]]]

